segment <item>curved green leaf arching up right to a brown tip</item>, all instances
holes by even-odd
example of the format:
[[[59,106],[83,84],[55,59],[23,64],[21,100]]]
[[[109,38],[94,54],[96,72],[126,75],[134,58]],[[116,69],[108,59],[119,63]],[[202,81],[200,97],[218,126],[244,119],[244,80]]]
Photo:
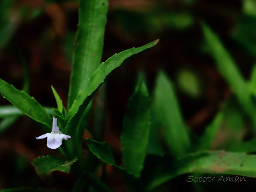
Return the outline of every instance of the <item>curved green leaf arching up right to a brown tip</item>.
[[[76,97],[76,100],[68,111],[67,119],[72,118],[76,112],[78,112],[78,109],[80,106],[82,106],[86,99],[89,98],[89,96],[92,96],[98,90],[98,88],[100,88],[106,78],[108,78],[108,76],[110,76],[115,69],[126,63],[130,57],[135,56],[146,49],[154,47],[158,42],[159,39],[138,48],[131,48],[126,51],[122,51],[103,62],[88,79],[88,86],[84,87],[84,89]],[[88,104],[88,101],[86,102]]]

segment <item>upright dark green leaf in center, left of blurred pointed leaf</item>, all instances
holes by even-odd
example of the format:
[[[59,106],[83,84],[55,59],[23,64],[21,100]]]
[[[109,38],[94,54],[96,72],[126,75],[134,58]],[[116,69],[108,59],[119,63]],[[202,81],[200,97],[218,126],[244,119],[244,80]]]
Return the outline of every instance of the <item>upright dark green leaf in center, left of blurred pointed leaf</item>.
[[[122,156],[125,170],[140,176],[146,157],[150,131],[151,106],[146,85],[140,78],[135,92],[128,102],[121,134]]]

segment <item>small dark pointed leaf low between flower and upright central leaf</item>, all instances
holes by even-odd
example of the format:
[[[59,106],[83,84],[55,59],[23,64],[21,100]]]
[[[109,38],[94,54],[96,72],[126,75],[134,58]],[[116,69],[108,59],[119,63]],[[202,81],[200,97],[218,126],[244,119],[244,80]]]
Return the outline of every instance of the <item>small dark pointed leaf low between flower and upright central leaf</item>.
[[[116,165],[116,161],[113,156],[113,152],[110,148],[110,146],[106,142],[98,142],[94,141],[93,139],[86,138],[87,145],[90,149],[90,151],[98,157],[101,161],[113,165],[115,167],[118,167]]]

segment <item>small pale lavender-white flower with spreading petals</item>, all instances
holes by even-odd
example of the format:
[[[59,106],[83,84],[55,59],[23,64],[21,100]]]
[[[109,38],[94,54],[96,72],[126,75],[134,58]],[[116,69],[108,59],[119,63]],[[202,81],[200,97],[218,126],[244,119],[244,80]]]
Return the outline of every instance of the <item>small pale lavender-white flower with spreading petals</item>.
[[[36,139],[44,139],[47,137],[47,147],[50,149],[57,149],[62,144],[62,139],[69,140],[71,137],[69,135],[62,134],[60,132],[60,129],[57,125],[57,119],[52,118],[52,132],[51,133],[45,133],[44,135],[41,135],[39,137],[36,137]]]

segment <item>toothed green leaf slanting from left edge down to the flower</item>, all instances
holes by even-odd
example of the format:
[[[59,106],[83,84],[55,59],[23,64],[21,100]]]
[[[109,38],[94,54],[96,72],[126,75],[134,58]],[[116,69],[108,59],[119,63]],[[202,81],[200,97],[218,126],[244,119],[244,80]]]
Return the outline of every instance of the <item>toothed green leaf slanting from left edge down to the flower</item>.
[[[10,101],[18,110],[26,116],[37,121],[44,131],[48,132],[52,126],[52,119],[46,110],[26,92],[16,89],[13,85],[8,84],[0,79],[0,93]]]

